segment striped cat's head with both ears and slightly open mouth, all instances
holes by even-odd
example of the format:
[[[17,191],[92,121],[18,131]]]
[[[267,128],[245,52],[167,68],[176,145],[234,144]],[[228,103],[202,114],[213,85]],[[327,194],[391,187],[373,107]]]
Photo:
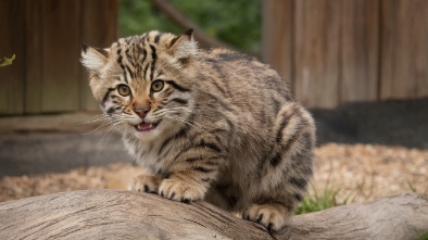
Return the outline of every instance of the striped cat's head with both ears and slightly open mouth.
[[[83,45],[90,87],[112,124],[141,139],[185,123],[192,111],[187,81],[197,54],[192,29],[184,35],[150,31],[121,38],[108,49]]]

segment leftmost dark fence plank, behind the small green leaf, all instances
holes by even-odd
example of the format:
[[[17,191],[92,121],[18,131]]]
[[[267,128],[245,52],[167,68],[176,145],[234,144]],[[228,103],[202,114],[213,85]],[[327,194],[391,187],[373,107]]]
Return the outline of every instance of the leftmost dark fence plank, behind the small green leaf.
[[[12,65],[0,67],[0,114],[24,112],[24,4],[25,0],[3,0],[0,8],[0,62],[16,55]]]

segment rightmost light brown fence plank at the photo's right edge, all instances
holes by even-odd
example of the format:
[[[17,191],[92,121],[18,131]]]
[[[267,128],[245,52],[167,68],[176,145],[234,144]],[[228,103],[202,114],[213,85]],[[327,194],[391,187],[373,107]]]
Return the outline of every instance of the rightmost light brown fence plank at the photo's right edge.
[[[428,96],[428,1],[381,2],[381,99]]]

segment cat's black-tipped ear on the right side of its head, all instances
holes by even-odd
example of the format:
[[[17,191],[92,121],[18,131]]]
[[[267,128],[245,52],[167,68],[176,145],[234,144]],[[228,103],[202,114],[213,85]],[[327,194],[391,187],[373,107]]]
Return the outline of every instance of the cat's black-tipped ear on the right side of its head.
[[[171,40],[168,46],[169,53],[180,61],[189,59],[198,51],[198,43],[193,39],[193,29],[188,29],[185,34],[179,35]]]

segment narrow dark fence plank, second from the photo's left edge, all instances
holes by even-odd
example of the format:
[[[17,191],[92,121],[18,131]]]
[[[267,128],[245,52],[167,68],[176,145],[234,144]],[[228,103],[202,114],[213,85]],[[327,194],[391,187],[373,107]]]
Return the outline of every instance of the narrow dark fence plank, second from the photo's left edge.
[[[25,113],[41,111],[41,7],[43,0],[25,2]]]

